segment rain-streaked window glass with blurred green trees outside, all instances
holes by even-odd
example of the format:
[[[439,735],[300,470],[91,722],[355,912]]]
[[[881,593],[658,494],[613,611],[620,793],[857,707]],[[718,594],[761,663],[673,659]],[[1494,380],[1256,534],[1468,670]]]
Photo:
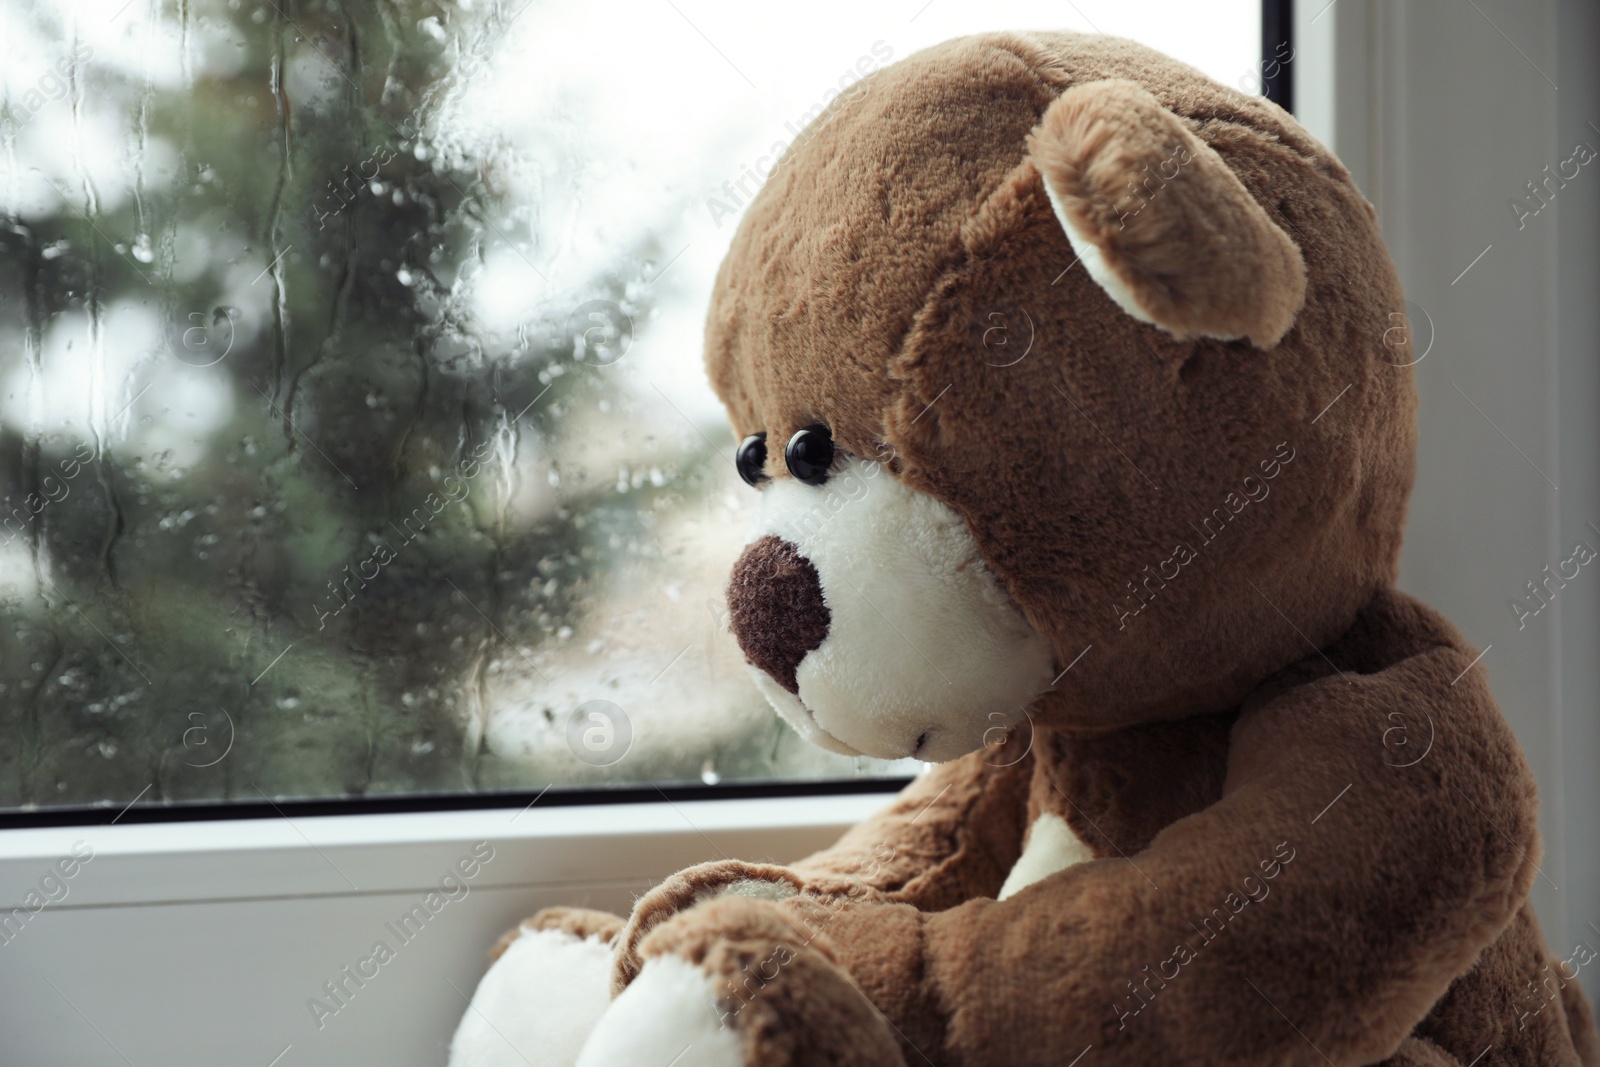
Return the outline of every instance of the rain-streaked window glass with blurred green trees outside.
[[[0,26],[10,811],[906,773],[792,736],[722,619],[699,328],[762,157],[994,27],[1264,75],[1245,0]]]

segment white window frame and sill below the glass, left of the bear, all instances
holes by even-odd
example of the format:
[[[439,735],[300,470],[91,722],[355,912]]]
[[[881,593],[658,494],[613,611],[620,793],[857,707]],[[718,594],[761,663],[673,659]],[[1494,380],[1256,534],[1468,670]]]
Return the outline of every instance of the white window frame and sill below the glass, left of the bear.
[[[61,883],[64,896],[46,883],[59,899],[0,939],[8,1061],[443,1064],[462,993],[520,918],[552,904],[626,913],[635,894],[706,859],[794,861],[890,798],[10,830],[0,833],[5,913],[75,843],[93,859]],[[474,869],[480,841],[493,859]],[[440,881],[453,869],[448,899]],[[394,923],[430,893],[438,910],[402,942]],[[309,1001],[336,1003],[323,984],[378,941],[394,960],[318,1027]]]

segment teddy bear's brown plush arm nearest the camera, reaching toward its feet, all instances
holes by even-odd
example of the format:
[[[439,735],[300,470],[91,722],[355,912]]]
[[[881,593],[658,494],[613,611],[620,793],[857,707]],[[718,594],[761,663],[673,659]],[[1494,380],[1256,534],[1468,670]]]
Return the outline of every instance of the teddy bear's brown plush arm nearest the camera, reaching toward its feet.
[[[933,913],[840,907],[819,934],[950,1062],[1382,1061],[1538,872],[1533,779],[1470,661],[1434,648],[1248,709],[1222,798],[1131,859]]]

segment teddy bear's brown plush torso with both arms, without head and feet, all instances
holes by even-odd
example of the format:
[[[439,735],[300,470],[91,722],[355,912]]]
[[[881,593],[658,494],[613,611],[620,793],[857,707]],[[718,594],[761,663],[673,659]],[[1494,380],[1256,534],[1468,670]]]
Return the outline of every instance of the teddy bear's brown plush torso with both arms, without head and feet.
[[[936,1064],[1067,1062],[1086,1046],[1094,1062],[1117,1064],[1309,1064],[1320,1053],[1336,1064],[1594,1064],[1589,1008],[1531,907],[1501,928],[1512,893],[1458,867],[1462,841],[1483,829],[1474,805],[1520,769],[1486,689],[1450,685],[1475,653],[1435,613],[1389,592],[1323,653],[1224,713],[1099,736],[1038,728],[1014,765],[1002,745],[941,766],[838,848],[795,865],[824,899],[848,899],[869,873],[874,899],[904,902],[917,918],[797,907],[805,929]],[[1386,718],[1394,705],[1413,710]],[[1430,709],[1434,737],[1414,709]],[[1422,769],[1446,731],[1477,753],[1475,773]],[[1382,753],[1389,774],[1352,784],[1355,768],[1333,755],[1341,736]],[[1285,758],[1323,739],[1323,757]],[[1254,808],[1256,776],[1278,779],[1272,811]],[[1419,817],[1418,793],[1440,779],[1462,801],[1451,821],[1427,819],[1426,833],[1392,825]],[[1051,821],[1070,835],[1046,830],[1059,867],[1034,865],[1026,888],[1019,859]],[[1261,837],[1262,825],[1280,837]],[[1389,862],[1384,841],[1397,833],[1430,877],[1347,896]],[[1534,856],[1501,845],[1526,878]],[[1030,921],[997,907],[1026,907],[1029,894],[1050,899]],[[1458,973],[1440,997],[1418,981],[1416,960],[1470,913],[1483,917],[1478,937],[1498,936],[1477,957],[1462,939],[1458,961],[1435,965]],[[1339,936],[1312,939],[1307,928]],[[1387,1054],[1402,1030],[1408,1038]],[[923,1059],[904,1051],[904,1062]]]

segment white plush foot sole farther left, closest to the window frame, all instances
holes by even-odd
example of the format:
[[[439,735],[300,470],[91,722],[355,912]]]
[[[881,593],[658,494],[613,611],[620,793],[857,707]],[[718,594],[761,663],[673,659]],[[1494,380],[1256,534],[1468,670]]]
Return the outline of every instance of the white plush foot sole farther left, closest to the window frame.
[[[611,1001],[611,945],[598,931],[573,933],[586,928],[576,918],[541,912],[501,939],[456,1027],[450,1067],[573,1067]]]

